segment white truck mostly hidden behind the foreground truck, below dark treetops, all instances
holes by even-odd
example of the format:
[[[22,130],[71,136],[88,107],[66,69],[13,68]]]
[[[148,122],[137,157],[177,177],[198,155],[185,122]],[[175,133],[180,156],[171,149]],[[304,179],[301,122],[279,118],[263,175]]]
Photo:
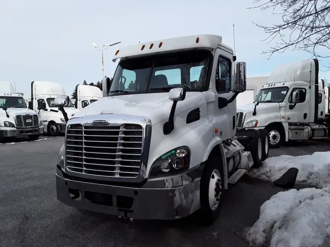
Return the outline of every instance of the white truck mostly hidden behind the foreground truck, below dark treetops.
[[[103,97],[102,91],[97,86],[77,85],[74,107],[81,110],[91,103],[94,103]]]

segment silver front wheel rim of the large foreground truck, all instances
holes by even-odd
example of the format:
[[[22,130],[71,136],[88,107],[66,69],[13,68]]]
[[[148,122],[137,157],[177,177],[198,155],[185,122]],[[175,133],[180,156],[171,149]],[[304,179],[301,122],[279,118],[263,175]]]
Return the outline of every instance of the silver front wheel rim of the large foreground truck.
[[[212,210],[216,210],[220,204],[221,198],[221,176],[219,170],[212,172],[209,183],[209,204]]]

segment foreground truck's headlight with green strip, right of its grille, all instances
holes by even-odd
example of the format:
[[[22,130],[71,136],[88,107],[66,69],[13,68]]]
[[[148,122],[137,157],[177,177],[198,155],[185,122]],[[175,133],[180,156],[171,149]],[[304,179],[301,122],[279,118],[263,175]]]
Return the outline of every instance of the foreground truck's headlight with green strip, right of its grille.
[[[151,166],[150,177],[169,176],[189,167],[190,149],[187,146],[177,147],[155,160]]]

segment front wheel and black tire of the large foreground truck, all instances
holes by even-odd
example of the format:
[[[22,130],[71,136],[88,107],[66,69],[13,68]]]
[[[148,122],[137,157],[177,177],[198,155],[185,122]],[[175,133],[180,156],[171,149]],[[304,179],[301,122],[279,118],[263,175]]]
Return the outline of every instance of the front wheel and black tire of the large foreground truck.
[[[199,218],[203,225],[212,225],[222,207],[223,167],[219,157],[210,157],[204,166],[200,180]]]

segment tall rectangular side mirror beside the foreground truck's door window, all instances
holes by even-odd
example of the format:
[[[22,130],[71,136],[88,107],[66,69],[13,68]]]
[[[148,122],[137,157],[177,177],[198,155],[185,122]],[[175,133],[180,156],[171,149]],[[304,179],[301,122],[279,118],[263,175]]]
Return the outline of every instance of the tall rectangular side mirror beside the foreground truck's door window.
[[[246,63],[233,62],[231,68],[231,91],[242,93],[246,90]]]

